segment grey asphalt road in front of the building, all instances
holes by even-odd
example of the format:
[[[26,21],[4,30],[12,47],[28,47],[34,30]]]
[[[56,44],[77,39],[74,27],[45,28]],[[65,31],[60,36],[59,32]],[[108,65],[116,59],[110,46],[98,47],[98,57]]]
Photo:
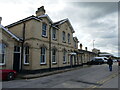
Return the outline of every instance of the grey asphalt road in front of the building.
[[[50,76],[3,81],[3,88],[118,88],[118,65],[113,64],[113,71],[108,65],[91,65],[77,70]]]

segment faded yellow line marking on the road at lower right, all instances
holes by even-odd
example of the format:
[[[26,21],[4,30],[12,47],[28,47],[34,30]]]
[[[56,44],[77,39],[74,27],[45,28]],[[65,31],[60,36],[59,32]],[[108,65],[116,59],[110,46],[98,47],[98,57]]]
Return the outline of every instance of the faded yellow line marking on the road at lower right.
[[[102,84],[104,84],[105,82],[109,81],[110,79],[116,77],[117,75],[118,75],[118,73],[114,73],[114,74],[108,76],[106,79],[103,79],[103,80],[98,81],[97,84],[101,84],[101,85],[102,85]],[[96,85],[90,86],[90,88],[100,88],[100,87],[102,87],[102,86],[96,86]]]

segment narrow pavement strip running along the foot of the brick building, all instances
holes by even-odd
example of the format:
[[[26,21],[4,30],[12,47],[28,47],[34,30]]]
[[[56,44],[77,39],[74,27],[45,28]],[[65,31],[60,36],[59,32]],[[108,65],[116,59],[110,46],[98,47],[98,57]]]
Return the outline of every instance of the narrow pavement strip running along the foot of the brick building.
[[[63,73],[63,72],[77,70],[77,69],[81,69],[81,68],[87,68],[87,67],[90,67],[90,65],[83,65],[83,66],[79,66],[79,67],[72,67],[72,68],[67,68],[67,69],[63,69],[63,70],[55,70],[55,71],[49,71],[49,72],[37,73],[37,74],[25,74],[25,75],[18,74],[16,79],[39,78],[39,77],[49,76],[49,75],[53,75],[53,74]]]

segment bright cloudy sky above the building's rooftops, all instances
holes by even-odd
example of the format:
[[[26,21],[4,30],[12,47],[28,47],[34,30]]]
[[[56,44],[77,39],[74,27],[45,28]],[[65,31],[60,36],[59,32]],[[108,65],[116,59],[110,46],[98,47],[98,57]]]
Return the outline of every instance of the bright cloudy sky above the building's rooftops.
[[[118,56],[117,0],[0,0],[2,25],[35,15],[41,6],[53,22],[65,18],[70,20],[75,30],[74,36],[79,44],[83,44],[83,49],[87,47],[92,51],[94,43],[94,48],[101,52]]]

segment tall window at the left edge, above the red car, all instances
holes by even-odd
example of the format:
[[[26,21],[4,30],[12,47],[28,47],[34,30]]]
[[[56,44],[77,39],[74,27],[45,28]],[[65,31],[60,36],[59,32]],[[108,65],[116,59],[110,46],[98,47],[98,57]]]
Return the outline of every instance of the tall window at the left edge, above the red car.
[[[5,44],[0,44],[0,65],[5,64]]]

